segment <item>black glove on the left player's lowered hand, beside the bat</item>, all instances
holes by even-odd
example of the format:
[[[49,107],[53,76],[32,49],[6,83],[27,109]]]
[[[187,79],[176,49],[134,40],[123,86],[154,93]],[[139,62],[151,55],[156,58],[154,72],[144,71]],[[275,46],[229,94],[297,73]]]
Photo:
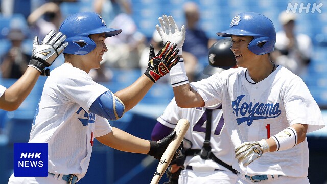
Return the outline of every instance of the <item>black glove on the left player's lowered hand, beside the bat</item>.
[[[175,138],[176,132],[172,132],[168,136],[166,136],[164,139],[161,139],[159,141],[150,141],[150,151],[148,155],[153,156],[155,159],[160,160],[161,156],[166,151],[166,148],[168,147],[169,143]]]

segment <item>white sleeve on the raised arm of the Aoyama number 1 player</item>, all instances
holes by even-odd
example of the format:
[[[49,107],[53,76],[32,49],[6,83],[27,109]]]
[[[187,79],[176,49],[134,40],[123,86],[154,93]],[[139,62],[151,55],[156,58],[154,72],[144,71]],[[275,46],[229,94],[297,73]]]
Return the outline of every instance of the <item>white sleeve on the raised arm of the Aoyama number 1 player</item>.
[[[198,82],[190,83],[190,85],[204,100],[204,107],[222,102],[222,91],[224,87],[222,78],[218,74],[214,74]]]

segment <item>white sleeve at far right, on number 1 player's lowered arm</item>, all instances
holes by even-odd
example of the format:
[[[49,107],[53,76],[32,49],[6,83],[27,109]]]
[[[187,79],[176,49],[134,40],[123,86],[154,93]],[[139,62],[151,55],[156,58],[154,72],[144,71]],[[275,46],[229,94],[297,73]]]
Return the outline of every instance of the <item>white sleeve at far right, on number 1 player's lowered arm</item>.
[[[325,126],[318,104],[299,77],[294,78],[282,94],[290,126],[296,123],[307,124],[308,133]]]

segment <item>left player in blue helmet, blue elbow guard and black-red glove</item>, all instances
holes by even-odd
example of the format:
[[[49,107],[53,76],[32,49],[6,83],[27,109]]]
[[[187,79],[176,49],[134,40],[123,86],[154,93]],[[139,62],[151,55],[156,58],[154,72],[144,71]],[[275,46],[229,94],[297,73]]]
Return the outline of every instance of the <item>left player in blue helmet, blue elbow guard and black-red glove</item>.
[[[175,132],[160,141],[149,141],[111,127],[108,119],[121,118],[179,61],[176,44],[165,42],[156,56],[150,46],[144,75],[114,93],[94,82],[88,72],[100,67],[102,56],[108,51],[105,39],[122,30],[108,28],[102,17],[93,12],[68,17],[59,30],[67,36],[65,62],[51,72],[44,84],[29,141],[48,143],[48,177],[12,175],[9,183],[75,184],[86,174],[94,138],[114,149],[160,159]]]

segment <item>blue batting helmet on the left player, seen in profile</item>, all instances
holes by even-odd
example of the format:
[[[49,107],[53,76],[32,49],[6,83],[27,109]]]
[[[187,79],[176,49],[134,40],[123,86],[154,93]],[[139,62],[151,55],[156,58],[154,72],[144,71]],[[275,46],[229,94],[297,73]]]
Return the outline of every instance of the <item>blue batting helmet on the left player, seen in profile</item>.
[[[67,36],[65,41],[69,43],[63,53],[76,55],[85,55],[96,48],[89,35],[105,33],[106,37],[110,37],[122,32],[121,29],[108,28],[103,18],[94,12],[81,12],[69,16],[61,24],[59,31]],[[78,42],[86,45],[81,46]]]

